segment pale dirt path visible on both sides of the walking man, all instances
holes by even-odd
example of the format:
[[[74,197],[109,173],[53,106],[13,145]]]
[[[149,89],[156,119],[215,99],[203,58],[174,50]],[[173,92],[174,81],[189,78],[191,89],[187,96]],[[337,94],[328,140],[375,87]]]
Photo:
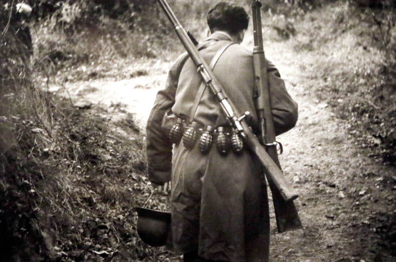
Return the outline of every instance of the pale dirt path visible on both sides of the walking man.
[[[379,229],[389,228],[393,221],[395,170],[358,149],[348,134],[347,122],[337,119],[325,101],[307,95],[310,86],[301,84],[301,72],[295,73],[295,64],[288,59],[293,54],[277,53],[273,48],[268,47],[267,55],[299,104],[296,127],[278,140],[285,149],[281,156],[284,173],[300,193],[296,205],[304,229],[276,233],[272,212],[271,261],[395,261],[390,255],[392,241],[386,241],[391,233]],[[65,87],[75,101],[121,103],[144,132],[155,94],[165,80],[166,74],[161,72]]]

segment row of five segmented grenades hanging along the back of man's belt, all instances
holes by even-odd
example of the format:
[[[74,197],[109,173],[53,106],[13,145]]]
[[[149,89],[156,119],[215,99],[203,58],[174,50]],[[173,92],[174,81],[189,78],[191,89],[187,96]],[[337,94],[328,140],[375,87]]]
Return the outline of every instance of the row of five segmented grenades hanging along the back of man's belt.
[[[177,119],[176,124],[174,124],[169,131],[169,138],[171,142],[175,144],[179,143],[180,140],[183,139],[183,145],[186,148],[191,149],[194,147],[198,138],[197,130],[197,122],[192,122],[189,126],[184,127],[183,120]],[[208,153],[212,146],[213,131],[214,128],[212,126],[207,126],[198,139],[198,147],[203,154]],[[227,155],[230,149],[232,149],[236,154],[242,151],[243,142],[236,132],[232,132],[231,138],[228,138],[228,134],[225,134],[224,132],[224,127],[219,126],[216,133],[217,138],[215,144],[217,151],[219,151],[221,155]]]

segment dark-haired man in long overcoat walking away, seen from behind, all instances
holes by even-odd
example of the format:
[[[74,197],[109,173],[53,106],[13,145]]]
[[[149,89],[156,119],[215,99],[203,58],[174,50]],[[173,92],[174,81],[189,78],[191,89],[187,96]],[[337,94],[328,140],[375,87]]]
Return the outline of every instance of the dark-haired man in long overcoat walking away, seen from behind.
[[[249,125],[259,134],[253,55],[240,43],[246,11],[219,2],[208,12],[210,35],[200,55]],[[295,126],[297,104],[278,70],[267,61],[276,135]],[[238,140],[215,96],[202,84],[188,54],[182,54],[157,94],[147,123],[148,178],[171,182],[171,243],[184,261],[268,261],[267,186],[259,159]]]

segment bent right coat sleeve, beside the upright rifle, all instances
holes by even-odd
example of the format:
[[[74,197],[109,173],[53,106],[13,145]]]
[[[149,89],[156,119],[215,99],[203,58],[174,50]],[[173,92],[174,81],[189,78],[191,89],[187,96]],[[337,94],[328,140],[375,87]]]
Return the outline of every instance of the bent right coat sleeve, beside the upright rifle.
[[[276,136],[293,128],[298,118],[297,103],[286,90],[276,67],[267,60],[268,86],[270,89],[271,110]]]

